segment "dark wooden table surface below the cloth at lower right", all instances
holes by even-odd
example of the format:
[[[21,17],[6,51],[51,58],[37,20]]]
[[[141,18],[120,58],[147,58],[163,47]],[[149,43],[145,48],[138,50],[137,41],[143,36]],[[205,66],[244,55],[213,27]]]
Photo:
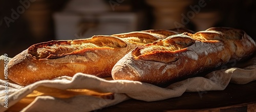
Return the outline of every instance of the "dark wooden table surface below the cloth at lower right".
[[[256,81],[223,91],[185,92],[181,97],[145,102],[126,100],[97,111],[256,111]]]

